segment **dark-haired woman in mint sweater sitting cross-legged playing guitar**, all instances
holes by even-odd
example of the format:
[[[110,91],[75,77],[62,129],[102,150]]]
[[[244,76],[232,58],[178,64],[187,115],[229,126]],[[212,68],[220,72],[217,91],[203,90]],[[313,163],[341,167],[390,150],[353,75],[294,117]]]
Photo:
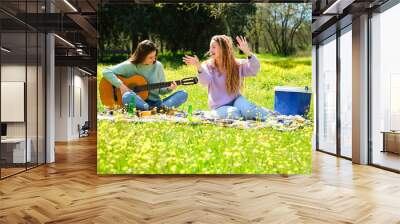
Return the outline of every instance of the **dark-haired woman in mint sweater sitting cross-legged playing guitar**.
[[[148,99],[143,100],[116,76],[130,77],[139,74],[143,76],[149,84],[165,82],[163,65],[156,60],[156,57],[156,45],[150,40],[144,40],[138,44],[135,52],[128,60],[113,67],[103,69],[104,78],[121,90],[122,103],[124,105],[131,102],[132,97],[135,97],[136,108],[139,110],[149,110],[152,107],[161,106],[177,108],[186,102],[188,94],[183,90],[176,91],[161,100],[160,95],[171,93],[176,89],[177,85],[175,82],[166,88],[150,90]]]

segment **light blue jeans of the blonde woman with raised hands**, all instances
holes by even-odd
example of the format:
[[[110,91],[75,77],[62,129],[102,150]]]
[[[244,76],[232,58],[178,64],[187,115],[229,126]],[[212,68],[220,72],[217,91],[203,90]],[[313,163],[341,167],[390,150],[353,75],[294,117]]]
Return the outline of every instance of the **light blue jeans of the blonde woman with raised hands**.
[[[252,104],[242,95],[238,96],[232,102],[213,110],[213,113],[219,118],[243,118],[244,120],[261,121],[265,121],[268,116],[273,114],[273,112],[267,108]]]

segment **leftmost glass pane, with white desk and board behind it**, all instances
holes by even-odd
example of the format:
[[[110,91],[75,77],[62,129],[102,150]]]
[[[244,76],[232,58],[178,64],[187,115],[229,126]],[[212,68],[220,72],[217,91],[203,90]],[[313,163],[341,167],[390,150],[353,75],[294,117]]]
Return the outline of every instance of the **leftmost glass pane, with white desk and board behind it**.
[[[26,33],[1,34],[2,177],[25,170],[30,161],[26,145]],[[26,150],[26,147],[28,150]]]

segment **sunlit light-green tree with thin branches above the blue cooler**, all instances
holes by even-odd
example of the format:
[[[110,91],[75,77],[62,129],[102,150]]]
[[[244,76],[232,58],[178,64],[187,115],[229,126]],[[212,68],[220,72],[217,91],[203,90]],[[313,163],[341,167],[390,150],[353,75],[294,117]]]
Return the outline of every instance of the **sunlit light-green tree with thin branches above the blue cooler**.
[[[311,52],[311,4],[257,4],[247,35],[255,52],[287,56]]]

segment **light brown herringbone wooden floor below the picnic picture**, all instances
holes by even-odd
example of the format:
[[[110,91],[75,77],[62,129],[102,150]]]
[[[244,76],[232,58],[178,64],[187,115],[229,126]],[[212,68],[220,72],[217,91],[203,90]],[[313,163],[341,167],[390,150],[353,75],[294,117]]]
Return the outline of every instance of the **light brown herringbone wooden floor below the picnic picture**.
[[[0,223],[400,223],[400,175],[315,153],[311,176],[97,176],[94,137],[0,181]]]

